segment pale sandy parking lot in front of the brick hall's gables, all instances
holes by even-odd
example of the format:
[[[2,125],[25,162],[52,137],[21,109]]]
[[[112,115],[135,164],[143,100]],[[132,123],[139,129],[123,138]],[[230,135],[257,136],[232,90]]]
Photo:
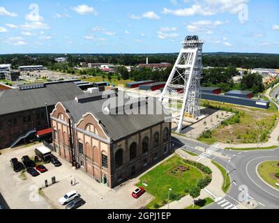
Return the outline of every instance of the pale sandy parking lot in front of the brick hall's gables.
[[[51,163],[44,164],[48,171],[36,177],[30,176],[27,172],[24,174],[15,173],[10,167],[10,159],[17,157],[20,161],[23,155],[33,157],[33,151],[38,146],[40,144],[1,151],[0,176],[2,180],[0,193],[9,208],[63,209],[65,206],[61,206],[59,199],[72,190],[76,190],[82,199],[86,201],[80,209],[142,208],[152,199],[151,195],[147,193],[143,194],[139,199],[131,196],[131,192],[135,189],[134,185],[137,183],[137,178],[131,179],[118,190],[111,190],[106,185],[96,182],[81,170],[76,170],[57,154],[54,155],[61,161],[61,167],[54,167]],[[54,185],[51,183],[53,176],[57,181]],[[76,184],[73,186],[70,184],[71,178],[76,179]],[[48,180],[48,187],[44,186],[45,180]],[[43,187],[43,190],[39,193],[38,188],[40,187]]]

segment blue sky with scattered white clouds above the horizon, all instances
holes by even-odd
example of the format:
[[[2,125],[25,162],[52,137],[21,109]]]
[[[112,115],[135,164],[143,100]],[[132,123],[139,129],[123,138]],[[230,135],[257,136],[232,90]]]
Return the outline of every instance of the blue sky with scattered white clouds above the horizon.
[[[278,0],[0,0],[0,54],[279,53]]]

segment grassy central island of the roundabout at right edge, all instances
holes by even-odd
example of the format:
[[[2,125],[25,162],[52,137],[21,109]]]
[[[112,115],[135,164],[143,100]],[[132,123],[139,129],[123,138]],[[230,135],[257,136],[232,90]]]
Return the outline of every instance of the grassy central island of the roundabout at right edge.
[[[266,183],[269,183],[269,185],[277,189],[279,189],[279,187],[275,184],[279,183],[279,178],[276,177],[276,173],[279,173],[278,164],[279,160],[266,161],[259,164],[257,169],[259,176],[261,176]]]

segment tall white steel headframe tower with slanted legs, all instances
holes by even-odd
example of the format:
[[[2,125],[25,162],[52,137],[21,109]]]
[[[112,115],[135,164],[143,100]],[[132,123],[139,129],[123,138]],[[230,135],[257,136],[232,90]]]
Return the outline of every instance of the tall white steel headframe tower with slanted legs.
[[[185,112],[191,114],[193,118],[199,116],[202,44],[197,36],[186,36],[165,88],[160,95],[162,102],[164,98],[182,101],[176,132],[181,132]]]

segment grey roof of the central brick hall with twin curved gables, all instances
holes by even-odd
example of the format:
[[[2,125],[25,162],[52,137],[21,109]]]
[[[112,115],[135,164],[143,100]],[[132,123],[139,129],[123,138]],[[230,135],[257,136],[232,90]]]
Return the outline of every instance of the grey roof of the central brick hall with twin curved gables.
[[[149,128],[152,125],[156,125],[157,123],[161,123],[165,121],[165,118],[170,117],[169,113],[163,109],[158,100],[156,98],[153,99],[153,102],[146,101],[146,98],[142,98],[141,101],[144,100],[146,103],[150,104],[151,107],[153,106],[154,114],[148,114],[148,110],[146,110],[146,114],[141,114],[143,109],[142,106],[146,105],[146,103],[132,102],[129,104],[130,101],[128,102],[128,98],[124,98],[123,102],[118,102],[118,100],[116,100],[116,103],[119,104],[116,105],[116,107],[110,106],[110,108],[108,108],[110,110],[110,114],[104,114],[102,111],[104,102],[107,101],[107,99],[82,103],[79,103],[76,100],[71,100],[68,102],[63,102],[63,106],[66,107],[69,115],[73,118],[75,123],[80,121],[80,118],[82,118],[84,114],[90,112],[100,121],[100,125],[103,125],[103,129],[109,135],[109,137],[116,141],[126,137],[129,134],[135,134],[140,130]],[[135,109],[133,111],[137,111],[138,114],[127,114],[126,112],[122,112],[124,108],[123,105],[127,106],[127,103],[128,107],[131,104],[135,105],[133,106],[133,109]],[[158,112],[156,114],[156,111],[160,111],[162,114],[158,114]]]

